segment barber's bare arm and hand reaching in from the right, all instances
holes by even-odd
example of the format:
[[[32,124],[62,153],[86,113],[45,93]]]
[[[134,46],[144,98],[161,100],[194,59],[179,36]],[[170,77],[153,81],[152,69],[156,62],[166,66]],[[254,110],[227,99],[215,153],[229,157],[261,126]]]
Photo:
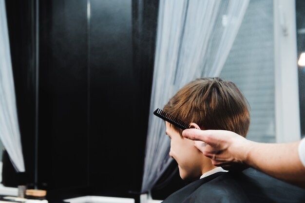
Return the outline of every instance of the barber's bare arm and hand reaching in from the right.
[[[247,164],[305,188],[305,139],[291,143],[259,143],[230,131],[198,129],[186,129],[183,136],[197,141],[196,147],[211,158],[214,165],[229,168]]]

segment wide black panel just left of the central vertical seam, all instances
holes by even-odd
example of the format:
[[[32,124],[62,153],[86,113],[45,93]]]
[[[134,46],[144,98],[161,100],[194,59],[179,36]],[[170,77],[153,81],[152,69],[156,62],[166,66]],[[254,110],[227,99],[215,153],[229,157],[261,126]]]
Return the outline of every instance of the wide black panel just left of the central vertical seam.
[[[88,185],[87,0],[40,1],[38,181]]]

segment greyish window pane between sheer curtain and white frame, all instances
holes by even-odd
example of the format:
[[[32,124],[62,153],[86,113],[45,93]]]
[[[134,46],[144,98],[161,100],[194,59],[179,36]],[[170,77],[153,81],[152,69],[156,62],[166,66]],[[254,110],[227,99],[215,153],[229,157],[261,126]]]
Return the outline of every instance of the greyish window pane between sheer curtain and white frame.
[[[220,74],[233,81],[250,105],[247,138],[275,142],[273,0],[250,0]]]

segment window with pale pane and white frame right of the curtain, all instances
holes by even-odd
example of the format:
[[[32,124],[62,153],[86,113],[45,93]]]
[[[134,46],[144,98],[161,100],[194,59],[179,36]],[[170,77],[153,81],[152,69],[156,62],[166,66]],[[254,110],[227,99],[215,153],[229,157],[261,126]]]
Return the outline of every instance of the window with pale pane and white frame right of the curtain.
[[[304,12],[302,8],[298,9]],[[304,18],[304,13],[301,15]],[[250,0],[220,74],[220,77],[236,83],[248,99],[249,140],[300,140],[296,41],[294,1]],[[305,77],[304,71],[302,73]],[[304,92],[302,87],[300,91]],[[304,99],[300,100],[301,119],[305,115],[302,102]]]

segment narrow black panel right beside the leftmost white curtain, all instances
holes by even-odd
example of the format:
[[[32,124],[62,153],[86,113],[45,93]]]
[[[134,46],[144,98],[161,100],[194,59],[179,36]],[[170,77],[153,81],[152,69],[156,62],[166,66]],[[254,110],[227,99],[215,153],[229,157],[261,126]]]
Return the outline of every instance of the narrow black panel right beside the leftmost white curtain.
[[[5,4],[19,129],[26,170],[25,178],[27,183],[34,183],[36,94],[35,2],[34,0],[6,0]],[[3,164],[3,167],[6,167],[5,164]],[[8,168],[10,168],[9,165]],[[3,171],[5,171],[5,168]],[[14,181],[14,177],[11,176],[11,178],[6,180],[8,186],[12,186],[10,182]]]

